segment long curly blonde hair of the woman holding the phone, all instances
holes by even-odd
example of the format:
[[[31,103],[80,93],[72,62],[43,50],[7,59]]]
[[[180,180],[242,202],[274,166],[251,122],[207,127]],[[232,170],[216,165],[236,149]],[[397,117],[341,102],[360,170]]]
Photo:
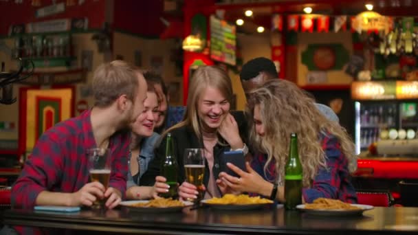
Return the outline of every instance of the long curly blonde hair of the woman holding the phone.
[[[259,105],[265,135],[256,134],[254,107]],[[290,134],[298,134],[298,151],[303,165],[303,185],[309,187],[318,172],[326,165],[326,155],[320,144],[320,135],[331,134],[338,139],[342,153],[349,162],[349,171],[356,168],[354,144],[344,128],[327,119],[316,108],[314,98],[287,80],[267,80],[250,93],[248,100],[250,139],[254,148],[267,154],[267,166],[274,159],[279,179],[284,179],[284,167],[289,155]],[[274,181],[275,179],[269,179]]]

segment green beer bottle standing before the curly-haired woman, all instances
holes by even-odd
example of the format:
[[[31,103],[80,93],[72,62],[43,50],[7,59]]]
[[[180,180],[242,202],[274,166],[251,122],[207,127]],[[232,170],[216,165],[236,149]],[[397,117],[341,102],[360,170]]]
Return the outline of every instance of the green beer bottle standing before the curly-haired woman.
[[[302,164],[298,155],[298,136],[290,135],[289,159],[285,166],[285,208],[296,209],[302,204]]]

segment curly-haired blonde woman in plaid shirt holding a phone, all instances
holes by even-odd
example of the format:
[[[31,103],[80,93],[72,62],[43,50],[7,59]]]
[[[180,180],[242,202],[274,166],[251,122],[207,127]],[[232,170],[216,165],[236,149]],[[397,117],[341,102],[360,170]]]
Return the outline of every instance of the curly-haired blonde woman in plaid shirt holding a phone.
[[[347,132],[316,109],[315,100],[287,80],[269,80],[250,93],[250,139],[259,152],[243,172],[229,164],[240,178],[221,172],[232,190],[252,192],[285,201],[284,168],[291,133],[298,134],[303,165],[303,201],[319,197],[356,203],[350,173],[356,168],[354,144]],[[274,195],[274,184],[278,191]]]

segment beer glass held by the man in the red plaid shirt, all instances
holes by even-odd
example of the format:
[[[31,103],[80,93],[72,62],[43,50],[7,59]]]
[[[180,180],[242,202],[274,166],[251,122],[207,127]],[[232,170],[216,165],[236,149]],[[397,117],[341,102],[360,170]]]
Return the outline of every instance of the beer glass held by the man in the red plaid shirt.
[[[109,186],[111,157],[109,148],[90,148],[87,150],[89,159],[89,175],[91,182],[99,181],[104,188]],[[107,199],[97,199],[93,208],[102,208]]]

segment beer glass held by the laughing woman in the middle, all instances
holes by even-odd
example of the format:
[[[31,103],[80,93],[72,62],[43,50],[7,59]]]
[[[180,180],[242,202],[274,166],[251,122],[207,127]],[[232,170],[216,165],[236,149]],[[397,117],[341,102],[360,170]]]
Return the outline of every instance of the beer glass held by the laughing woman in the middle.
[[[205,173],[203,148],[186,148],[184,150],[184,169],[186,170],[186,181],[195,185],[199,192],[197,199],[188,199],[188,201],[199,202],[205,194],[203,186],[203,175]]]

